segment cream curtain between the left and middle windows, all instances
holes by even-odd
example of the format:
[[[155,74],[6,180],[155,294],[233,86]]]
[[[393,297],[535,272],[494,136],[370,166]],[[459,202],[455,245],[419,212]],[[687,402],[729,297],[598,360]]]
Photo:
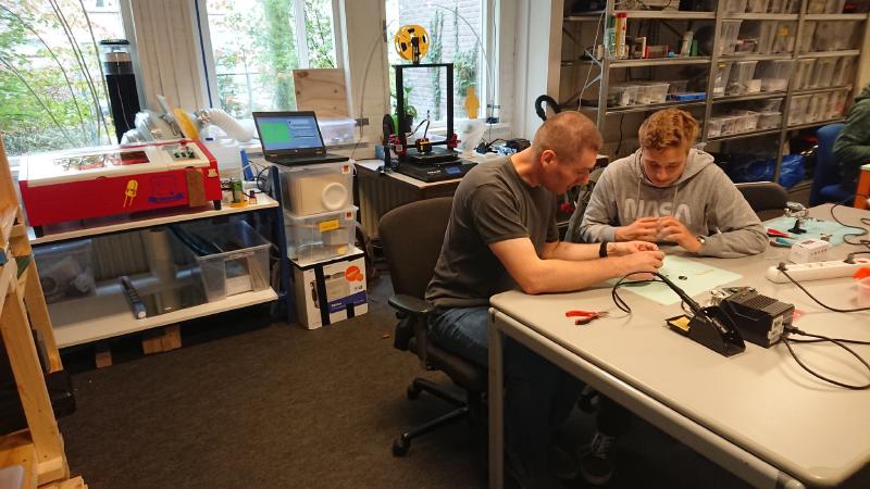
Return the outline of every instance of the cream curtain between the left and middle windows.
[[[158,95],[171,108],[209,106],[194,0],[132,0],[130,5],[148,109],[160,111]]]

